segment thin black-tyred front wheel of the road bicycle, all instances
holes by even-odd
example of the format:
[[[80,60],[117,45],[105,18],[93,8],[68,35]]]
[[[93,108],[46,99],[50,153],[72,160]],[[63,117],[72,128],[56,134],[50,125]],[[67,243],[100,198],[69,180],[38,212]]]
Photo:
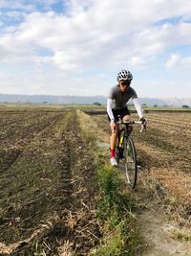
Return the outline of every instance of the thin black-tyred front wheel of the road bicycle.
[[[124,141],[124,165],[127,184],[135,188],[138,178],[137,153],[130,136]]]

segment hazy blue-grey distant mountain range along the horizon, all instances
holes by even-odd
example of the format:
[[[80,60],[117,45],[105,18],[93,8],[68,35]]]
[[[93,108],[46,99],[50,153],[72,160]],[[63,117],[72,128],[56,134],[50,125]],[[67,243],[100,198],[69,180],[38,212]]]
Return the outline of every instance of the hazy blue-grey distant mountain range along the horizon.
[[[0,94],[0,103],[27,103],[27,104],[55,104],[55,105],[93,105],[99,103],[106,105],[104,96],[53,96],[53,95],[16,95]],[[138,98],[141,105],[158,106],[182,106],[191,107],[191,98]],[[130,101],[130,104],[132,102]]]

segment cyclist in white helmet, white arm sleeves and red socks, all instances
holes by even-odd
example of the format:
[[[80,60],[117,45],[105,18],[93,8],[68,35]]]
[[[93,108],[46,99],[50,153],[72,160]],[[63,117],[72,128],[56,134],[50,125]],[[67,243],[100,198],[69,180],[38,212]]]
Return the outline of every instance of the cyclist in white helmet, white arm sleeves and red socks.
[[[130,86],[133,76],[130,71],[121,70],[117,74],[118,84],[109,92],[107,99],[107,114],[110,121],[111,137],[110,137],[110,154],[111,154],[111,165],[117,166],[117,160],[115,158],[115,148],[117,143],[117,129],[118,124],[117,116],[120,115],[123,121],[131,119],[129,109],[127,108],[127,102],[132,99],[137,109],[138,116],[142,125],[146,128],[147,120],[143,117],[143,111],[141,106],[138,104],[137,92]]]

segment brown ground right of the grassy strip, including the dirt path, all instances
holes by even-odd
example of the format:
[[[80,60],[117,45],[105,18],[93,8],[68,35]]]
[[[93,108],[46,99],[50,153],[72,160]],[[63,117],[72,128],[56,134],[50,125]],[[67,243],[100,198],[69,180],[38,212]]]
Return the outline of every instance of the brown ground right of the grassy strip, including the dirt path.
[[[98,145],[100,149],[105,145],[109,158],[107,116],[89,113],[97,133],[102,130],[102,135],[97,137]],[[138,205],[138,212],[134,214],[145,244],[143,256],[190,255],[191,252],[191,158],[188,153],[191,122],[188,115],[148,114],[147,131],[139,133],[139,128],[134,128],[132,133],[139,172],[137,189],[130,193]]]

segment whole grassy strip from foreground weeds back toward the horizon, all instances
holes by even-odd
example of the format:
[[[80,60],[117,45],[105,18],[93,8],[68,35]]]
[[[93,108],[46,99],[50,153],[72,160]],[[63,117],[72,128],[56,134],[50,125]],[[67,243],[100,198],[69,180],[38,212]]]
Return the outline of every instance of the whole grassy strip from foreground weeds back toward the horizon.
[[[88,126],[91,118],[81,118],[80,122]],[[97,148],[95,133],[84,126],[82,132],[96,166],[96,216],[102,233],[99,245],[90,255],[138,255],[143,243],[133,214],[137,209],[136,200],[131,191],[124,190],[119,170],[106,163],[108,151]]]

